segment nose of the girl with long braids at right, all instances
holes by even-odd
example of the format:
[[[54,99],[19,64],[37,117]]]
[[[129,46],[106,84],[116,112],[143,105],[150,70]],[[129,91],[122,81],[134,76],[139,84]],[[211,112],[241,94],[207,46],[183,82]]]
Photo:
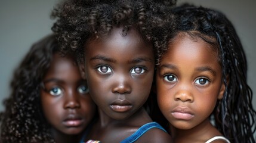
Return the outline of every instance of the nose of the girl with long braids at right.
[[[182,101],[182,102],[193,102],[193,94],[192,89],[190,89],[187,86],[182,86],[178,89],[178,91],[175,93],[174,100],[175,101]]]

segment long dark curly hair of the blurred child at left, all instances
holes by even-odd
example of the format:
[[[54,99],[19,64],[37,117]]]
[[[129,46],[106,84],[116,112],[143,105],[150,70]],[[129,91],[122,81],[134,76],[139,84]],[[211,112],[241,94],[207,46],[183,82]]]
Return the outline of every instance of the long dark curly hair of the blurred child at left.
[[[1,113],[1,142],[54,142],[40,101],[41,82],[53,54],[59,52],[54,35],[33,44],[11,80],[11,95]]]

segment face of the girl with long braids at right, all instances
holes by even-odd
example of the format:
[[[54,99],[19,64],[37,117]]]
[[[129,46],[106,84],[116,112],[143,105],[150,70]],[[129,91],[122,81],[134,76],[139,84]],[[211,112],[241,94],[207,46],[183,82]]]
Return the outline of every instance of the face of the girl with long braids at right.
[[[159,108],[172,126],[203,125],[225,89],[217,52],[202,39],[177,38],[162,58],[156,85]]]

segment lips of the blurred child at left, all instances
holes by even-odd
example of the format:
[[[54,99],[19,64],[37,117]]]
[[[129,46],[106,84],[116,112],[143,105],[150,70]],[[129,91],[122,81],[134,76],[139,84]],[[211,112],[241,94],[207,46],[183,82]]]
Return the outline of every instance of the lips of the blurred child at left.
[[[63,120],[63,125],[66,127],[78,127],[81,126],[84,120],[82,117],[75,115],[75,114],[69,114],[66,119]]]

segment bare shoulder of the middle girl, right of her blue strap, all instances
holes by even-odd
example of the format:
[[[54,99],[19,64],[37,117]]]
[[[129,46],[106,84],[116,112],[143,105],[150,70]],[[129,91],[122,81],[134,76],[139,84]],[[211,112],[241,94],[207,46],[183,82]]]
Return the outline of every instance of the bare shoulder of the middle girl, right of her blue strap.
[[[157,143],[170,143],[173,142],[171,136],[164,132],[164,130],[153,128],[148,130],[136,142],[157,142]]]

